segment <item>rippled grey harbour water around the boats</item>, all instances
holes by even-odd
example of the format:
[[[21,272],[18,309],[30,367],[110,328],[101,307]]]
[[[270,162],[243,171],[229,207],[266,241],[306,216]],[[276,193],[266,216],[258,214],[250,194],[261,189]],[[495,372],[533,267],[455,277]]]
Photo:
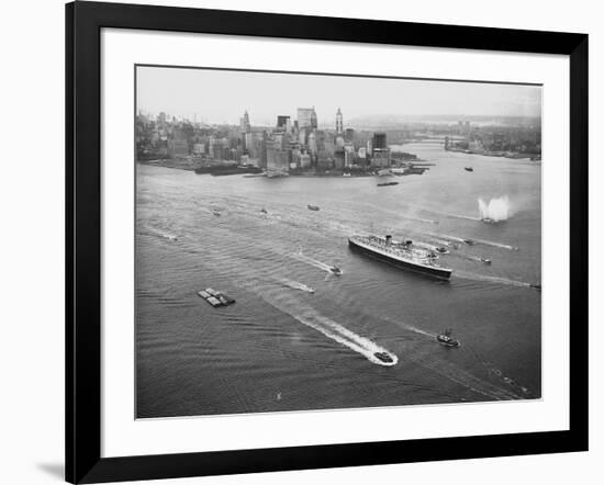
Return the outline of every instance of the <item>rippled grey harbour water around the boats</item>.
[[[437,165],[384,188],[137,167],[138,417],[540,396],[540,165],[404,149]],[[511,217],[480,222],[499,198]],[[351,252],[368,232],[449,245],[451,281]],[[435,341],[446,327],[460,348]]]

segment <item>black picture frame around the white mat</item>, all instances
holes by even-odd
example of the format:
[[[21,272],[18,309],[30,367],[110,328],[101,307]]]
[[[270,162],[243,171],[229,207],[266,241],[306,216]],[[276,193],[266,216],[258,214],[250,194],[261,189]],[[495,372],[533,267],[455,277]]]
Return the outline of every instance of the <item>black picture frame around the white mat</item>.
[[[101,29],[570,58],[570,429],[101,458]],[[588,450],[588,35],[119,3],[66,5],[66,480],[98,483]]]

